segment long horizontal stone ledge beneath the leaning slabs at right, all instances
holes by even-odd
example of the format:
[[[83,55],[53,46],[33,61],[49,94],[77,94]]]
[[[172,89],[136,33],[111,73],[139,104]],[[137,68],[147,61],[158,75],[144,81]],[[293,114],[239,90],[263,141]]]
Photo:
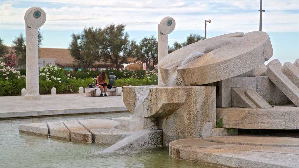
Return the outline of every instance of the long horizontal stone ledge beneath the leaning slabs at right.
[[[223,118],[226,128],[294,129],[298,127],[299,107],[275,106],[269,109],[217,108],[217,120]]]

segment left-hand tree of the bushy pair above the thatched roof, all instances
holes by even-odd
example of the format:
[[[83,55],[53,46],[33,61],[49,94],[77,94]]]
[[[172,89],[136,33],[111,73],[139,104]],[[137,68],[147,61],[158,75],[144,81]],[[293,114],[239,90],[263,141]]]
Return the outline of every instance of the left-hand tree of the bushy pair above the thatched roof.
[[[84,28],[79,34],[71,35],[71,42],[68,44],[71,56],[80,63],[84,69],[89,68],[95,61],[100,60],[100,28]]]

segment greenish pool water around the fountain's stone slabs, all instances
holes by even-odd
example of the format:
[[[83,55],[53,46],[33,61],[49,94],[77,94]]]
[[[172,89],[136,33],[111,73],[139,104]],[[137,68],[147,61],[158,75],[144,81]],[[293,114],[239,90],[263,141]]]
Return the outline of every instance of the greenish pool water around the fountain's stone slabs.
[[[130,115],[130,113],[109,113],[0,120],[0,167],[212,168],[197,162],[171,158],[168,155],[168,148],[100,155],[98,153],[110,144],[69,142],[19,132],[20,124],[93,118],[111,119]]]

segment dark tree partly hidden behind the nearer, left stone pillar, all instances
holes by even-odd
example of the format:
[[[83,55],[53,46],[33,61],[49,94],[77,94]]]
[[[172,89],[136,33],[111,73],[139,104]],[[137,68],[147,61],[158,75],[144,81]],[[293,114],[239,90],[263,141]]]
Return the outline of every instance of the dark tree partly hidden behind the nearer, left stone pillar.
[[[38,47],[42,46],[42,40],[44,39],[40,28],[38,30]],[[16,39],[13,40],[12,45],[15,54],[18,56],[19,65],[26,65],[26,41],[22,33],[19,34]]]

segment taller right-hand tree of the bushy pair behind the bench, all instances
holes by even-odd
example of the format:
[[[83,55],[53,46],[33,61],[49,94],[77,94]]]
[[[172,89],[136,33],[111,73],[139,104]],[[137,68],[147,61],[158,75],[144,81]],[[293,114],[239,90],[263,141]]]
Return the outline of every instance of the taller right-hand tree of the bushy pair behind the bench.
[[[129,34],[124,32],[125,25],[111,24],[103,29],[101,56],[105,62],[111,62],[119,71],[127,58],[135,56],[137,45],[135,40],[129,41]]]

